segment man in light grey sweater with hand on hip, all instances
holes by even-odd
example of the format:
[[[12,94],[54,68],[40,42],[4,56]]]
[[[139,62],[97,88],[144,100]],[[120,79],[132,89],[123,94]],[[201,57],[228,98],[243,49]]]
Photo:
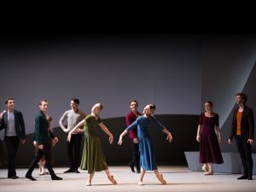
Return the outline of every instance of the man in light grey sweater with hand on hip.
[[[70,102],[71,109],[63,113],[59,124],[61,129],[65,132],[69,132],[75,127],[81,120],[86,117],[86,114],[79,109],[79,99],[73,98]],[[67,128],[64,125],[64,121],[67,119]],[[82,127],[83,128],[83,127]],[[70,142],[67,142],[67,156],[70,162],[69,169],[66,172],[76,172],[79,173],[79,158],[80,158],[80,148],[83,132],[82,129],[77,129],[73,131]]]

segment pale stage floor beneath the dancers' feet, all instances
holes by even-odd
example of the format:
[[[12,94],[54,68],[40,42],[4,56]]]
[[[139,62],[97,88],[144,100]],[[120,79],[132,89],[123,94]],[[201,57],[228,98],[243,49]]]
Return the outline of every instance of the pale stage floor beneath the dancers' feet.
[[[213,176],[204,176],[202,172],[190,172],[187,166],[158,166],[159,171],[166,179],[167,185],[162,185],[154,176],[154,172],[146,172],[143,186],[137,185],[139,174],[131,172],[128,166],[109,166],[118,184],[108,181],[105,172],[96,172],[91,186],[85,186],[87,172],[63,173],[67,167],[54,167],[57,176],[63,177],[61,181],[52,181],[49,175],[39,176],[35,169],[32,176],[38,181],[25,178],[27,169],[17,169],[18,179],[7,177],[7,170],[0,169],[0,192],[35,192],[35,191],[255,191],[256,178],[253,181],[237,180],[241,175],[216,173]],[[255,176],[253,176],[255,177]]]

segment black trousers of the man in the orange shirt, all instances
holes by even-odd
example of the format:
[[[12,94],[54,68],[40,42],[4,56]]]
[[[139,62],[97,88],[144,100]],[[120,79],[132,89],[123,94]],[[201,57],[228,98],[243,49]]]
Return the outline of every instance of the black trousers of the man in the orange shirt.
[[[252,145],[247,143],[247,139],[240,136],[236,137],[236,147],[238,148],[241,163],[243,166],[244,174],[253,175],[253,158],[252,158]]]

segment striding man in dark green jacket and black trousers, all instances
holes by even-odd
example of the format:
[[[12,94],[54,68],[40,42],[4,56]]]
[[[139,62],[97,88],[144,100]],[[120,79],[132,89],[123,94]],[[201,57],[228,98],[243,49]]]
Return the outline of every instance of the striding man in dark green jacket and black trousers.
[[[55,172],[52,169],[50,164],[50,145],[51,140],[55,139],[55,135],[53,132],[49,131],[49,123],[46,119],[46,113],[48,110],[48,102],[46,100],[41,100],[39,102],[39,112],[35,119],[35,131],[34,131],[34,141],[38,144],[38,153],[32,160],[32,163],[26,172],[26,178],[31,179],[32,181],[36,181],[34,177],[32,177],[32,172],[35,167],[38,165],[38,161],[41,160],[43,154],[45,159],[45,166],[47,167],[49,174],[52,180],[61,180],[61,177],[57,177]]]

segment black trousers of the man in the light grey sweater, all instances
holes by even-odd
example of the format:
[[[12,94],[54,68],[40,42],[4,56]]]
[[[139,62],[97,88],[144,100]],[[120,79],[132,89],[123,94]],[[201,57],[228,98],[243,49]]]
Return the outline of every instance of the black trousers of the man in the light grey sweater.
[[[70,142],[67,142],[67,157],[70,162],[69,168],[71,170],[79,168],[81,140],[81,134],[73,134]]]

